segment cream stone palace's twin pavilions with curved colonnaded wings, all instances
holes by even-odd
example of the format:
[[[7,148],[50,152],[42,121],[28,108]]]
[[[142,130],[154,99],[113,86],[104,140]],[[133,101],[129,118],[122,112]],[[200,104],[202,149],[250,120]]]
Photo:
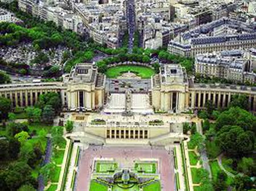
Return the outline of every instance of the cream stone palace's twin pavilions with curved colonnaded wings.
[[[41,94],[57,92],[65,111],[95,111],[108,101],[106,77],[97,67],[82,63],[65,75],[63,82],[2,84],[0,96],[7,97],[13,107],[35,105]],[[248,108],[256,111],[256,88],[229,84],[199,84],[187,78],[179,65],[164,65],[151,79],[148,90],[150,105],[155,111],[181,113],[188,109],[203,109],[210,100],[216,108],[227,107],[232,95],[246,95]],[[131,94],[133,96],[133,94]]]

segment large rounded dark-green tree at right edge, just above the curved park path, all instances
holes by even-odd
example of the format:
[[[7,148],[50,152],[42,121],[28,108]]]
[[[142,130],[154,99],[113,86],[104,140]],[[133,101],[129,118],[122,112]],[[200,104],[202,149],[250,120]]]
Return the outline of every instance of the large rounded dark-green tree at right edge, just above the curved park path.
[[[216,143],[223,152],[234,158],[250,154],[254,149],[254,134],[239,126],[224,126],[217,133]]]

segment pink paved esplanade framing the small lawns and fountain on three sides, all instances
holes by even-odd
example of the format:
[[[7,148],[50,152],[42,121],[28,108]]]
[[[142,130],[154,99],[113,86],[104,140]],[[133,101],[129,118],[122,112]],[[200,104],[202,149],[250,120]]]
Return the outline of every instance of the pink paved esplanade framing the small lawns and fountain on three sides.
[[[174,164],[172,155],[164,148],[150,147],[110,147],[89,146],[81,152],[79,171],[76,177],[76,191],[89,191],[90,176],[93,172],[94,158],[113,158],[117,160],[134,161],[138,159],[158,159],[162,189],[174,191]]]

